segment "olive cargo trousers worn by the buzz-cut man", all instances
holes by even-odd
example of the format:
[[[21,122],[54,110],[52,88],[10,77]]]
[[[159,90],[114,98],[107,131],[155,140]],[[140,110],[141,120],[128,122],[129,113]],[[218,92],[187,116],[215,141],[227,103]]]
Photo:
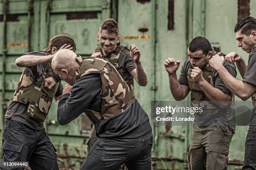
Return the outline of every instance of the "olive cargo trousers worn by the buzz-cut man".
[[[217,122],[206,128],[193,125],[192,140],[188,148],[190,170],[227,170],[228,152],[233,130]]]

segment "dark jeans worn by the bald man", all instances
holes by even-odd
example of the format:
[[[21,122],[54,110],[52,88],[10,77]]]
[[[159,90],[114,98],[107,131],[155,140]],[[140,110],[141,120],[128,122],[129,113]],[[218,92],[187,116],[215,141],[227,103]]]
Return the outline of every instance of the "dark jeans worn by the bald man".
[[[80,170],[151,170],[152,133],[140,139],[99,138],[92,146]]]

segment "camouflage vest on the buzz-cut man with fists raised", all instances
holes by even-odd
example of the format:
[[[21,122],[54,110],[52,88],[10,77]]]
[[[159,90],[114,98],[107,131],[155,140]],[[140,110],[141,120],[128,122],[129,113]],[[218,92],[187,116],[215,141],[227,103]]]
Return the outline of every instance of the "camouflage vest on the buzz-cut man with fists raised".
[[[217,52],[218,55],[223,56],[224,54],[219,51],[217,47],[213,47],[215,52]],[[195,113],[197,115],[203,115],[203,116],[215,116],[218,114],[218,109],[220,107],[216,106],[214,103],[212,103],[209,98],[205,95],[205,93],[202,91],[200,86],[193,80],[193,78],[190,76],[192,72],[192,66],[189,67],[187,71],[187,82],[189,85],[189,89],[191,90],[190,97],[191,97],[191,105],[192,107],[203,107],[202,113]],[[212,86],[212,71],[213,68],[207,63],[204,67],[201,68],[203,78]]]

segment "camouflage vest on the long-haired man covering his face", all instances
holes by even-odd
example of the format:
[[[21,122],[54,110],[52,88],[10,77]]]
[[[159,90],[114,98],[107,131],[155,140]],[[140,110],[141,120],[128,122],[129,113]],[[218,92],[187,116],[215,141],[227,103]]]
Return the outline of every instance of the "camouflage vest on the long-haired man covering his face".
[[[44,77],[48,78],[53,75],[51,63],[47,63],[44,71]],[[59,82],[51,89],[44,87],[44,80],[41,80],[38,85],[35,85],[33,73],[25,67],[16,90],[13,95],[13,102],[22,102],[28,104],[28,115],[33,117],[40,123],[43,123],[49,112],[51,102],[58,90]]]

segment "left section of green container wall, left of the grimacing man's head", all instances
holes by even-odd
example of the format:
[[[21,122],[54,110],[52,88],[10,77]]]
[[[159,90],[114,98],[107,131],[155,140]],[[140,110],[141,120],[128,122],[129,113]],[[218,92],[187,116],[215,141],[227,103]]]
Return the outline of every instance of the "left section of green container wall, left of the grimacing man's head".
[[[1,94],[4,94],[8,101],[5,103],[5,100],[2,100],[3,109],[6,109],[10,103],[23,70],[15,65],[17,57],[30,50],[44,50],[49,38],[58,34],[72,36],[77,44],[77,53],[89,56],[98,44],[96,35],[100,24],[113,15],[110,8],[111,0],[5,0],[4,2],[7,2],[6,7],[3,2],[0,3],[2,40],[0,69],[3,70],[1,71],[3,83],[0,84],[0,89],[4,92]],[[7,15],[3,15],[3,11],[7,11]],[[7,16],[6,19],[4,16]],[[3,33],[5,25],[6,32]],[[3,41],[5,37],[6,42]],[[58,150],[59,165],[78,169],[87,155],[86,143],[90,135],[91,123],[85,115],[81,115],[69,125],[60,126],[56,121],[56,109],[57,102],[53,102],[45,122],[46,131]],[[1,110],[1,113],[2,122],[5,110]],[[3,123],[1,123],[1,137],[2,125]]]

